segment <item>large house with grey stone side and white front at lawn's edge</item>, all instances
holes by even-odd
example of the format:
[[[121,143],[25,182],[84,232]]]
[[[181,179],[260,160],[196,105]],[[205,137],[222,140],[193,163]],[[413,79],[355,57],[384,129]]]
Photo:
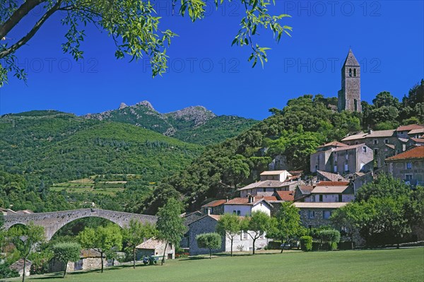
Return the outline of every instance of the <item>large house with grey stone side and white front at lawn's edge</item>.
[[[197,221],[190,223],[190,236],[189,236],[189,254],[191,256],[197,254],[208,254],[208,249],[202,249],[197,246],[196,235],[203,233],[212,233],[216,232],[216,225],[218,224],[220,216],[216,215],[206,215],[202,218],[199,218]],[[249,231],[251,233],[251,231]],[[213,249],[212,252],[230,252],[231,242],[228,237],[221,235],[222,244],[219,249]],[[268,245],[269,239],[265,235],[261,236],[255,242],[255,248],[261,249]],[[249,234],[241,232],[240,235],[237,235],[232,242],[232,251],[251,251],[253,247],[253,240]]]

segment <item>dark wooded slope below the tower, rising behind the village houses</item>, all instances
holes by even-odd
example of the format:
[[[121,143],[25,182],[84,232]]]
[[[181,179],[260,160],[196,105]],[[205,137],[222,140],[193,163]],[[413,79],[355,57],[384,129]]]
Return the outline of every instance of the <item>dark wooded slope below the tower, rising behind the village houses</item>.
[[[233,139],[208,147],[187,169],[155,189],[144,203],[145,211],[154,213],[154,208],[163,204],[163,195],[182,195],[193,211],[206,199],[232,196],[237,185],[257,180],[276,155],[286,156],[286,169],[307,173],[310,154],[324,142],[361,130],[424,123],[424,80],[413,86],[402,102],[383,92],[372,105],[363,102],[363,113],[338,113],[336,105],[337,98],[303,95],[289,100],[282,110],[271,109],[271,117]]]

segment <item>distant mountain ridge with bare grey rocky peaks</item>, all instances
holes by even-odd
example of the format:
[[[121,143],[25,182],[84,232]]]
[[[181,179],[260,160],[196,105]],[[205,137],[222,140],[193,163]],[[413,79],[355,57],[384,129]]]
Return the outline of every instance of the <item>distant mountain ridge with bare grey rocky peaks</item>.
[[[100,114],[86,114],[87,119],[134,124],[137,127],[172,136],[188,143],[209,145],[220,143],[246,131],[257,120],[243,117],[217,116],[205,107],[186,107],[175,112],[161,114],[150,102],[143,101],[136,105],[121,104],[119,109]]]

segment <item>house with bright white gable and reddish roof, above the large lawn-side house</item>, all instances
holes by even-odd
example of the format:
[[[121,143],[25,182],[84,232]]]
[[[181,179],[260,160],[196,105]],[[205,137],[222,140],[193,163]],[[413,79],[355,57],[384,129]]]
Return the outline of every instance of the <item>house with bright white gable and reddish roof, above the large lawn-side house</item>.
[[[223,206],[224,213],[234,213],[237,216],[250,216],[254,211],[263,211],[270,216],[273,208],[269,201],[259,196],[231,199]]]

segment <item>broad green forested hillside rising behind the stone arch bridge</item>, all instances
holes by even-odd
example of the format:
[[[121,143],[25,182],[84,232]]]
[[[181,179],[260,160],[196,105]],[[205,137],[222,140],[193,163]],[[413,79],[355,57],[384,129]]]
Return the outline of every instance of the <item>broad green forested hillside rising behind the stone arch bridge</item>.
[[[201,151],[201,146],[130,124],[56,111],[7,114],[0,118],[0,206],[45,211],[92,201],[66,192],[56,201],[49,192],[54,183],[90,175],[141,175],[133,188],[143,190],[182,170]]]

